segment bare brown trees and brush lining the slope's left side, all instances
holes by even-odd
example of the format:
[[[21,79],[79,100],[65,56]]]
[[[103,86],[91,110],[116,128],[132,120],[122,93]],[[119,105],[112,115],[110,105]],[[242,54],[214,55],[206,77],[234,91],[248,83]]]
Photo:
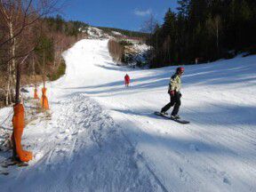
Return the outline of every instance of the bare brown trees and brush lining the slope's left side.
[[[79,21],[65,21],[59,15],[56,18],[38,17],[23,28],[21,21],[29,22],[35,16],[28,17],[21,12],[19,15],[19,12],[16,12],[19,7],[15,6],[19,5],[2,4],[1,7],[0,105],[2,106],[14,102],[18,63],[21,84],[41,83],[44,75],[46,80],[55,80],[65,73],[66,66],[61,57],[62,52],[79,39],[86,37],[80,31],[80,28],[87,26],[86,24]],[[18,19],[13,17],[8,21],[4,20],[4,12],[13,14]],[[10,35],[11,32],[15,37]]]

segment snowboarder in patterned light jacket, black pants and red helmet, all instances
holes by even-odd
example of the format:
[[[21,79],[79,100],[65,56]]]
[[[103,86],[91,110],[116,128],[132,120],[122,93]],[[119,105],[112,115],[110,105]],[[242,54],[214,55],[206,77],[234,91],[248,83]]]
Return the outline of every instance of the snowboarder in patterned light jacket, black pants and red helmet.
[[[170,94],[170,102],[164,106],[161,110],[161,114],[166,116],[167,113],[166,111],[169,110],[171,107],[174,106],[172,110],[172,119],[180,119],[180,116],[178,116],[179,109],[180,109],[180,98],[181,98],[181,93],[180,93],[180,88],[181,88],[181,79],[180,77],[184,73],[185,68],[176,68],[176,73],[171,76],[170,84],[169,84],[169,89],[168,93]]]

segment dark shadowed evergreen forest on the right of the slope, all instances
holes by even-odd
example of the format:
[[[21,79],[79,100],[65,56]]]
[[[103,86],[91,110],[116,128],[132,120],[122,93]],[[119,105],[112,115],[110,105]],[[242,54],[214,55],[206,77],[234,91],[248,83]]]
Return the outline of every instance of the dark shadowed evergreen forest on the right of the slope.
[[[179,0],[148,40],[151,68],[232,58],[256,52],[256,1]]]

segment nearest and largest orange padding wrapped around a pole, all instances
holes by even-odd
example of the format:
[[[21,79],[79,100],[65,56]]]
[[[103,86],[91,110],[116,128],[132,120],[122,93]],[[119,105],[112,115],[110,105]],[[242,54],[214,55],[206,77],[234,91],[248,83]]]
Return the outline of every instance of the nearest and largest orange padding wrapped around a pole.
[[[33,158],[33,154],[29,151],[25,151],[21,146],[21,137],[24,130],[24,108],[22,104],[16,104],[14,107],[14,115],[12,118],[13,132],[12,132],[12,142],[14,149],[16,150],[16,155],[20,158],[22,162],[28,162]]]

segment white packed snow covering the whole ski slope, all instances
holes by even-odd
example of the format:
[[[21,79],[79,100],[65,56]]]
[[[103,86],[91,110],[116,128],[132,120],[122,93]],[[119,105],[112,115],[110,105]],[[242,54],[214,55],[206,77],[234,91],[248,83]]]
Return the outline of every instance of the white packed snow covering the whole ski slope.
[[[5,170],[0,191],[256,191],[255,56],[186,66],[184,125],[154,115],[170,100],[175,67],[116,67],[107,44],[83,40],[64,52],[67,74],[47,84],[51,110],[24,132],[35,158]]]

